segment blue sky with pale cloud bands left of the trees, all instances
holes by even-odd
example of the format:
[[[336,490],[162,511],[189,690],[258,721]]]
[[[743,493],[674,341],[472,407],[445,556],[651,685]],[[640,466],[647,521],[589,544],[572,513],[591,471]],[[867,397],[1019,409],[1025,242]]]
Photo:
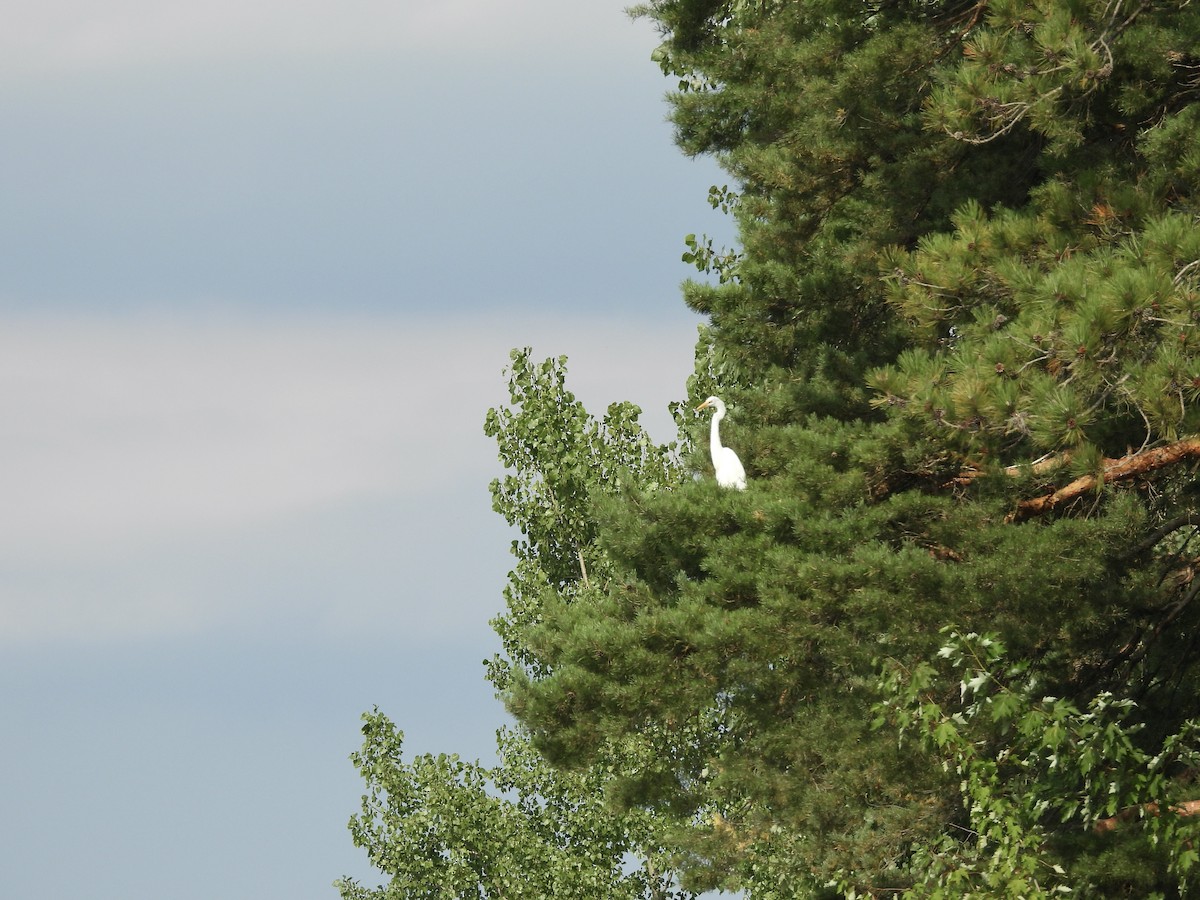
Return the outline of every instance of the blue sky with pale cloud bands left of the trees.
[[[0,0],[0,870],[317,900],[490,760],[509,349],[670,439],[728,234],[620,0]]]

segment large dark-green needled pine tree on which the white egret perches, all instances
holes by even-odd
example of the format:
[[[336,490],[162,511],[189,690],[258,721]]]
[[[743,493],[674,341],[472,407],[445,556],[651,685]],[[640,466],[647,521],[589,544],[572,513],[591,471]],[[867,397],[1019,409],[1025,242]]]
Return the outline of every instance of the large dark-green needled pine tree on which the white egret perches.
[[[689,394],[730,403],[751,482],[596,503],[612,584],[542,606],[509,704],[558,766],[666,742],[622,796],[678,817],[694,886],[917,889],[914,847],[960,818],[960,788],[937,748],[869,728],[876,658],[914,666],[947,622],[986,625],[1046,694],[1134,702],[1147,754],[1200,713],[1186,464],[1014,515],[1195,431],[1200,16],[638,12],[662,30],[680,146],[736,182],[710,199],[738,251],[688,241],[715,276],[685,286],[710,319]]]

